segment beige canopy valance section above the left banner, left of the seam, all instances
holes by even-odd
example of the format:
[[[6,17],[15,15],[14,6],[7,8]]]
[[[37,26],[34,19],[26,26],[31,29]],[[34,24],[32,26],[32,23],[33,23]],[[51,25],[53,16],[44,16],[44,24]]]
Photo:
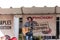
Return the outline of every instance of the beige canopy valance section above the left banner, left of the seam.
[[[0,8],[0,14],[22,14],[21,8]]]

